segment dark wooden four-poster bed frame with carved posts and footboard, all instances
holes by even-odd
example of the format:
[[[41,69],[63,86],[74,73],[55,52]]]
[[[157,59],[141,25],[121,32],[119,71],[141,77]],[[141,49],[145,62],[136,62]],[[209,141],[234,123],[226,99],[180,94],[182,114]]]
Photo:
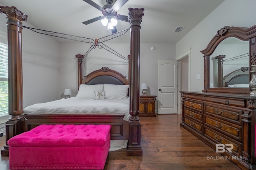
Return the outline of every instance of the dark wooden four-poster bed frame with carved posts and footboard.
[[[98,114],[42,114],[34,111],[29,112],[23,109],[23,91],[22,91],[22,21],[27,21],[27,17],[16,7],[0,6],[0,13],[7,16],[8,32],[8,77],[9,77],[9,114],[11,117],[6,122],[6,146],[1,150],[2,156],[8,156],[7,141],[25,131],[28,131],[41,124],[110,124],[112,140],[128,140],[127,155],[142,156],[140,145],[140,121],[139,121],[139,50],[140,50],[140,23],[144,8],[129,8],[128,21],[130,22],[130,60],[129,60],[129,81],[126,76],[119,72],[102,68],[96,70],[82,79],[82,59],[83,55],[76,55],[78,59],[78,88],[82,85],[94,86],[101,84],[108,88],[113,86],[128,86],[128,102],[124,104],[126,109],[117,113],[98,113]],[[110,80],[110,81],[109,81]],[[82,85],[81,85],[82,84]],[[110,85],[112,84],[112,85]],[[110,87],[109,87],[110,86]],[[106,90],[106,89],[105,89]],[[100,90],[98,90],[100,92]],[[111,91],[111,90],[110,90]],[[127,92],[126,91],[126,92]],[[78,91],[79,94],[79,91]],[[84,93],[86,94],[86,93]],[[107,95],[107,94],[106,94]],[[72,99],[63,99],[66,102]],[[86,100],[86,99],[84,99]],[[109,100],[110,101],[110,100]],[[108,102],[109,102],[108,101]],[[105,101],[106,102],[106,101]],[[118,104],[120,105],[120,104]],[[24,112],[25,110],[25,112]],[[50,113],[50,111],[49,111]]]

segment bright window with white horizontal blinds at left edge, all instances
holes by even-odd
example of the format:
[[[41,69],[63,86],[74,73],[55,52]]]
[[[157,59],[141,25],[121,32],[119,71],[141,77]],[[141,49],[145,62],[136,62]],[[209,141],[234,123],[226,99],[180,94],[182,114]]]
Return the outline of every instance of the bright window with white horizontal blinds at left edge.
[[[0,116],[8,115],[8,46],[0,43]]]

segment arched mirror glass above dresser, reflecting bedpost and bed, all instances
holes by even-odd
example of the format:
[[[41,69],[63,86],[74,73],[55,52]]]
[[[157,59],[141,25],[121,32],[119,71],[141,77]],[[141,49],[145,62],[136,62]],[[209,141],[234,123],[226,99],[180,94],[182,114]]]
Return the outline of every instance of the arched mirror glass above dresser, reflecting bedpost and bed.
[[[249,41],[224,39],[210,56],[210,88],[249,88],[248,68]]]

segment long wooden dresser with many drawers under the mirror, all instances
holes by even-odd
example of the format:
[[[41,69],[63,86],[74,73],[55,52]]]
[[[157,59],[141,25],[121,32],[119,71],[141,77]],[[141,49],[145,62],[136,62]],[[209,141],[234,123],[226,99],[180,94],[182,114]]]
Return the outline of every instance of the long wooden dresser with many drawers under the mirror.
[[[180,126],[214,150],[216,144],[225,145],[225,152],[218,148],[220,154],[225,155],[242,169],[252,168],[252,164],[256,163],[254,135],[256,96],[181,92],[181,97]],[[229,152],[228,149],[232,147],[232,152]]]

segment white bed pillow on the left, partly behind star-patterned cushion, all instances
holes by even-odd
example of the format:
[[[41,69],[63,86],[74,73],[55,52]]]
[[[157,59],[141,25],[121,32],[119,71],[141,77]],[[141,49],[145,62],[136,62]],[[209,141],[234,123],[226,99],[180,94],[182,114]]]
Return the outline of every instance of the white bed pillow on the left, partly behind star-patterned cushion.
[[[102,92],[102,91],[103,91],[103,84],[95,84],[95,85],[81,84],[79,86],[79,90],[76,97],[80,99],[94,99],[95,98],[94,92]]]

